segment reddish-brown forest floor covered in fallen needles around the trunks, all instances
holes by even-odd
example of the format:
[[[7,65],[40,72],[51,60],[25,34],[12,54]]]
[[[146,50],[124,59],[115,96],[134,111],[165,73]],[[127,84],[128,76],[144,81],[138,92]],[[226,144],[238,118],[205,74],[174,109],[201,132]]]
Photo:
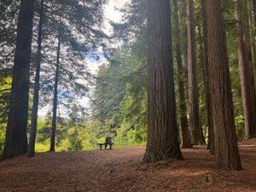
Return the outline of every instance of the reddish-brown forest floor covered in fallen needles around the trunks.
[[[205,146],[152,165],[142,147],[20,156],[0,162],[0,191],[256,191],[256,139],[239,148],[241,172],[219,171]]]

